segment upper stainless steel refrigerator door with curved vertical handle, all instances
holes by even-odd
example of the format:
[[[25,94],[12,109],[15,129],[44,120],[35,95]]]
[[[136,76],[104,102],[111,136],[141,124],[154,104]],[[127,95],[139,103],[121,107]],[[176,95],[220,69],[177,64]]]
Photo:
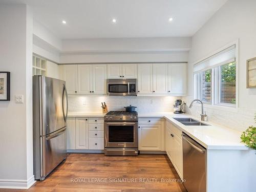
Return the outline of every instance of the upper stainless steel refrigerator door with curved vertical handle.
[[[42,90],[42,135],[53,133],[66,125],[67,95],[65,81],[40,76]]]

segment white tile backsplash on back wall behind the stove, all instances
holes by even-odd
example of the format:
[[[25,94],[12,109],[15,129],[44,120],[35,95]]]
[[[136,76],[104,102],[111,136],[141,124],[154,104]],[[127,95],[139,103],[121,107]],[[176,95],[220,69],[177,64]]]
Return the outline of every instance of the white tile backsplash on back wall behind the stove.
[[[172,112],[175,99],[172,96],[69,96],[70,112],[101,112],[101,102],[108,105],[109,111],[125,110],[124,106],[137,106],[138,112]]]

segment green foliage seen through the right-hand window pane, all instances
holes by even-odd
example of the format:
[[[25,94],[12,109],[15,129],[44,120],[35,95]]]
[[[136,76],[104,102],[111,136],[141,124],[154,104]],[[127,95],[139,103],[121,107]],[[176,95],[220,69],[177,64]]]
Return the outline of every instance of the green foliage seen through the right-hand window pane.
[[[236,82],[236,62],[221,66],[221,81]]]

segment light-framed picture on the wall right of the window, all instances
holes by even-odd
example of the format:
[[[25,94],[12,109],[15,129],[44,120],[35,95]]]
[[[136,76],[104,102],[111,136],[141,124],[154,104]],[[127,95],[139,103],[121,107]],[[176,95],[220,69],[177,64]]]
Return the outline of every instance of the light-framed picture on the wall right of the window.
[[[247,60],[246,88],[256,88],[256,57]]]

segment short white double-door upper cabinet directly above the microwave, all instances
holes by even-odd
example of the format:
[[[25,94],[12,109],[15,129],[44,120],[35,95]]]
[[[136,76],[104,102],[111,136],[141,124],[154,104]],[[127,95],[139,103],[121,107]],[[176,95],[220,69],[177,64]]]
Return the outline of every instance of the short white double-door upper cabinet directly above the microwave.
[[[109,79],[137,78],[137,64],[108,64]]]

